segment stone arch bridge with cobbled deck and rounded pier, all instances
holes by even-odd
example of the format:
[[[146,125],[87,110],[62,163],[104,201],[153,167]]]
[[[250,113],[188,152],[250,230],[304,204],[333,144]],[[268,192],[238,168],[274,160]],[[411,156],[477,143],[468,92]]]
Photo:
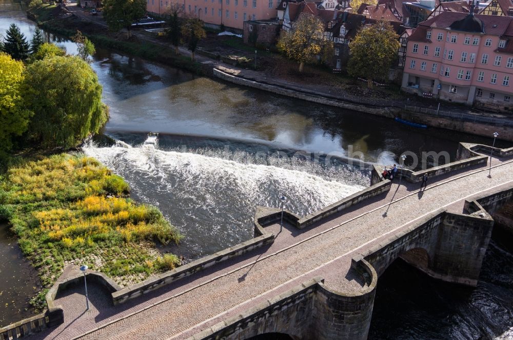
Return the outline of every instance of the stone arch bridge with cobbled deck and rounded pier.
[[[486,154],[493,154],[489,160]],[[489,169],[487,165],[490,165]],[[488,177],[488,172],[491,177]],[[513,148],[460,145],[458,160],[398,180],[372,170],[371,186],[300,217],[257,209],[255,238],[120,288],[66,268],[48,310],[0,330],[27,339],[366,339],[379,276],[402,258],[434,278],[476,285],[494,227],[510,221]]]

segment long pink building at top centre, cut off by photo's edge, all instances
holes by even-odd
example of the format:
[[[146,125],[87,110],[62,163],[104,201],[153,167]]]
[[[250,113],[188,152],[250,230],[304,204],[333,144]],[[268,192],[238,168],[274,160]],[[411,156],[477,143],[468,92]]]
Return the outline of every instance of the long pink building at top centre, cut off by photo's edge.
[[[187,14],[197,15],[206,24],[240,29],[246,20],[277,17],[278,0],[146,0],[148,12],[164,14],[173,3]]]

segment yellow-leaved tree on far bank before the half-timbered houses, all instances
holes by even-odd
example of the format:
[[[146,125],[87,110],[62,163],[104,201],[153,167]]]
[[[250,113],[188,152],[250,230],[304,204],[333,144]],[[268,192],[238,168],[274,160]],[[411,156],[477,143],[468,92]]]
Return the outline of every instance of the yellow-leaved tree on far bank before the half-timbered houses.
[[[319,17],[301,14],[291,32],[282,31],[278,48],[287,58],[299,62],[299,72],[303,72],[305,62],[330,55],[333,43],[324,38],[324,23]]]

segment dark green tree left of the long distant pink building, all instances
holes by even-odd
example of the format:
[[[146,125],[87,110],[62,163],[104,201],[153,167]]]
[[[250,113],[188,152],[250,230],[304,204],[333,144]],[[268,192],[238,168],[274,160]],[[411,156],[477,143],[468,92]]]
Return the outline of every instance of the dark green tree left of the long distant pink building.
[[[146,16],[146,0],[105,0],[103,17],[109,29],[126,28],[127,38],[132,36],[132,24]]]

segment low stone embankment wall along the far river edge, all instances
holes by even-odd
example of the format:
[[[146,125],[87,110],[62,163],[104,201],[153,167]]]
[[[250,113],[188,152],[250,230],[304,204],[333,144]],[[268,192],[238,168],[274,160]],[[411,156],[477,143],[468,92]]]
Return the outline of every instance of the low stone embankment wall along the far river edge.
[[[470,121],[460,121],[449,118],[442,118],[439,116],[429,116],[420,113],[406,112],[397,107],[377,107],[376,105],[368,105],[368,104],[358,104],[351,103],[347,101],[330,99],[321,95],[317,95],[314,93],[306,93],[295,91],[291,89],[284,89],[279,86],[274,86],[271,84],[265,84],[258,81],[245,79],[242,77],[234,76],[232,74],[228,74],[219,69],[213,69],[213,75],[220,79],[254,89],[259,89],[263,91],[268,91],[272,93],[277,93],[283,96],[298,98],[302,100],[307,100],[315,103],[320,103],[324,105],[330,105],[333,107],[343,108],[347,110],[365,112],[372,115],[378,115],[388,118],[400,117],[405,120],[414,121],[416,123],[426,124],[428,126],[432,126],[433,128],[442,128],[453,131],[466,132],[473,135],[490,137],[494,132],[498,132],[500,139],[513,141],[513,129],[504,126],[496,126],[483,124],[478,122],[470,122]]]

